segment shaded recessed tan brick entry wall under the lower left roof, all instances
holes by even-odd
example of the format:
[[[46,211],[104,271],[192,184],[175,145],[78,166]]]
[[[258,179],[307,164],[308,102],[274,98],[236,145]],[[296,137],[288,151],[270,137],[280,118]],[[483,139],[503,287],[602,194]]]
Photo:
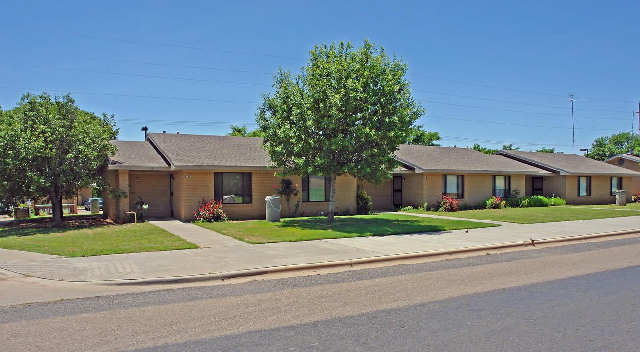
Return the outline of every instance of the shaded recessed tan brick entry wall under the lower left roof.
[[[138,181],[140,180],[140,181]],[[129,172],[129,193],[135,197],[140,196],[148,208],[144,211],[145,217],[169,217],[169,172],[161,171],[131,171]],[[129,209],[135,210],[131,197]]]

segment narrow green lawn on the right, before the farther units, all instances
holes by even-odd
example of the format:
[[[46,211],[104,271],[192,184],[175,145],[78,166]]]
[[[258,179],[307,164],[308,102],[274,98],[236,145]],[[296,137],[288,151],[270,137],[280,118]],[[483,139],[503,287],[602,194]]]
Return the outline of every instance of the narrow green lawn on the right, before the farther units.
[[[424,210],[410,210],[410,213],[428,213],[447,217],[476,218],[517,224],[538,224],[540,222],[558,222],[572,220],[589,220],[592,218],[630,217],[640,215],[639,211],[607,209],[571,208],[568,206],[546,206],[541,208],[505,208],[465,210],[454,213],[430,212]]]

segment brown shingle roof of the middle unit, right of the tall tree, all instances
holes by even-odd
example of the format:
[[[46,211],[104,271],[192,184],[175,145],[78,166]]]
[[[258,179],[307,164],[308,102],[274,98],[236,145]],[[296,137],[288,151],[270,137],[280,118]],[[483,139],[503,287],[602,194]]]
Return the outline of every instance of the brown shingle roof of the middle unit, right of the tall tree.
[[[508,158],[487,155],[470,148],[415,146],[403,144],[396,158],[420,171],[502,172],[548,174],[547,171]]]

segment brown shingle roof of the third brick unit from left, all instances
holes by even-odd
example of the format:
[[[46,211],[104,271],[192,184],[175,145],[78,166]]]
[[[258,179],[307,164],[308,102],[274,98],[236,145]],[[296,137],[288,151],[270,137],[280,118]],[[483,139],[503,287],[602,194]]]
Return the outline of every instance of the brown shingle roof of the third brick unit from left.
[[[575,154],[540,151],[500,150],[496,155],[519,160],[559,174],[640,176],[640,172],[607,164]]]

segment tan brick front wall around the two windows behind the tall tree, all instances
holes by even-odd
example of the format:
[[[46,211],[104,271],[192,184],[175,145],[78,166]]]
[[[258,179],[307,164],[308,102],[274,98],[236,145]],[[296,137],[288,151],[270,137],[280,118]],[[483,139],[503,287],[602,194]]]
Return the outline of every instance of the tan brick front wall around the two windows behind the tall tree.
[[[215,172],[248,172],[246,170],[220,170]],[[185,178],[189,175],[189,178]],[[204,197],[207,201],[214,198],[214,171],[184,170],[174,172],[174,216],[180,220],[194,220],[193,212],[198,210],[198,204]],[[291,200],[291,211],[294,211],[296,203],[300,201],[299,213],[316,215],[318,211],[325,214],[329,210],[329,202],[302,203],[302,182],[300,176],[287,176],[294,185],[298,185],[300,191],[297,197]],[[273,171],[252,172],[252,203],[251,204],[224,204],[223,208],[232,220],[248,220],[265,218],[265,202],[267,195],[276,195],[276,188],[280,187],[282,177],[274,175]],[[336,182],[335,211],[343,213],[354,212],[356,208],[356,181],[351,176],[342,176]],[[287,203],[282,199],[281,215],[289,215]]]

